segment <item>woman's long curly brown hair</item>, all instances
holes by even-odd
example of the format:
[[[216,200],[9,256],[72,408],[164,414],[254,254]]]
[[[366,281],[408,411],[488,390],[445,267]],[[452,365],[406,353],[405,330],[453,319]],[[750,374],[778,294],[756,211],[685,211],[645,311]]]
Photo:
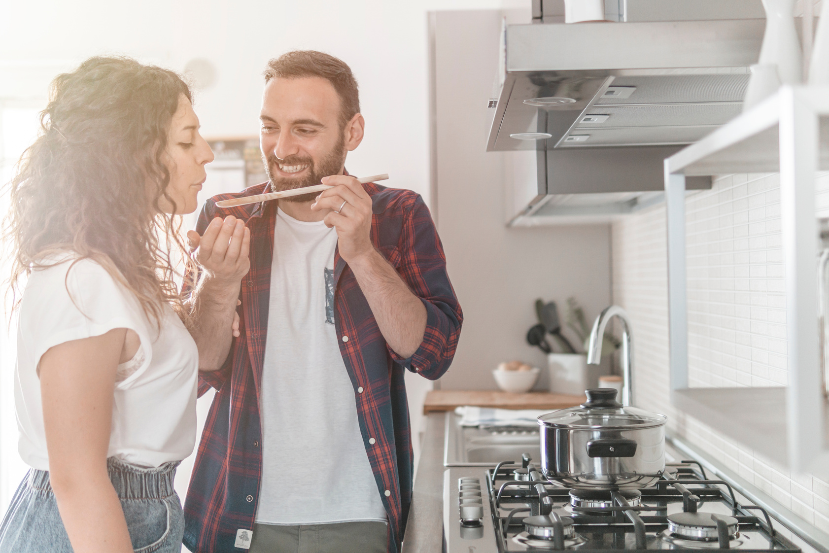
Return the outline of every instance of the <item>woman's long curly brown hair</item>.
[[[175,206],[164,159],[182,95],[191,99],[175,72],[125,57],[92,57],[52,81],[41,132],[10,182],[4,235],[17,303],[22,274],[70,252],[103,265],[158,325],[163,303],[185,318],[171,254],[191,274],[193,261],[182,218],[159,203]]]

